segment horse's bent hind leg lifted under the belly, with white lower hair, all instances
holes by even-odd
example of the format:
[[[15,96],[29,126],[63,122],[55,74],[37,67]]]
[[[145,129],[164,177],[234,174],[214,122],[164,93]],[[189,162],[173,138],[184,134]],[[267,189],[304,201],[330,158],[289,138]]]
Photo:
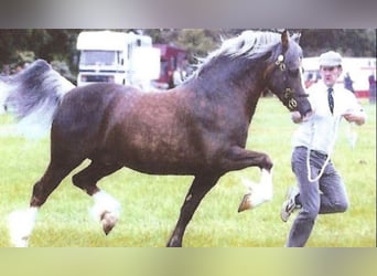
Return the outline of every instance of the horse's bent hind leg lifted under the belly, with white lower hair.
[[[87,168],[73,177],[74,184],[86,191],[95,200],[91,211],[101,222],[106,235],[118,222],[120,205],[110,194],[97,187],[97,181],[120,168],[122,166],[118,163],[103,163],[94,160]]]

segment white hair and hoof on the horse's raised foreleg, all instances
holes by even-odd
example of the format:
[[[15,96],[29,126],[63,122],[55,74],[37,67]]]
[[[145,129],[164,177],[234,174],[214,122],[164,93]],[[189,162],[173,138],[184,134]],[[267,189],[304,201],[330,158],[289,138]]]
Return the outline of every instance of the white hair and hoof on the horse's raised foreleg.
[[[238,212],[255,209],[260,204],[272,200],[272,170],[268,171],[262,169],[259,183],[255,183],[248,179],[243,179],[243,183],[247,188],[247,193],[239,204]]]

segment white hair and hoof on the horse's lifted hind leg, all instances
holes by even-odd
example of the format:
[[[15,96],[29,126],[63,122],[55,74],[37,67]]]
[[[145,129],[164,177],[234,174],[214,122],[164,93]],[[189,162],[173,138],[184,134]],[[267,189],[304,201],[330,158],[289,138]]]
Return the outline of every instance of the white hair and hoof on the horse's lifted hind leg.
[[[94,217],[101,222],[107,235],[116,225],[120,214],[120,204],[110,194],[99,191],[93,194],[95,204],[91,209]]]

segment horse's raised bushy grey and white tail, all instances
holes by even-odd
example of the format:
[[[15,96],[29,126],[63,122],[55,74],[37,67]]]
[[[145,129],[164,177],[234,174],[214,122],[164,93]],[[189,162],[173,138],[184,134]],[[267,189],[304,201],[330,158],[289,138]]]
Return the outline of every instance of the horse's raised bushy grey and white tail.
[[[18,130],[32,138],[50,130],[64,95],[75,87],[43,60],[33,62],[3,83],[8,94],[4,110],[17,118]]]

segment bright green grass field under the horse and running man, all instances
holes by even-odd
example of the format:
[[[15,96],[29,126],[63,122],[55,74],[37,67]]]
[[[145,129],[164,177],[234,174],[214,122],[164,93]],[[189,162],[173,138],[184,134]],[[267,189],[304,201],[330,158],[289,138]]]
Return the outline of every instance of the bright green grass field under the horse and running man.
[[[366,125],[356,129],[356,147],[349,146],[348,124],[341,125],[333,162],[349,194],[346,213],[321,215],[308,243],[312,247],[376,246],[376,106],[364,102]],[[11,119],[0,116],[0,246],[10,246],[7,216],[28,208],[31,190],[44,172],[49,139],[26,140],[9,136]],[[274,98],[262,98],[254,117],[247,148],[265,151],[274,162],[274,197],[252,211],[237,213],[245,193],[241,178],[259,181],[259,169],[224,176],[203,200],[187,226],[186,247],[281,247],[292,220],[279,216],[286,190],[294,182],[290,138],[295,126]],[[83,164],[85,166],[85,164]],[[79,169],[79,168],[78,168]],[[77,169],[77,170],[78,170]],[[75,170],[75,171],[77,171]],[[75,172],[74,171],[74,172]],[[73,172],[73,173],[74,173]],[[72,174],[73,174],[72,173]],[[71,176],[72,176],[71,174]],[[99,182],[121,202],[121,217],[105,236],[88,210],[89,197],[73,187],[71,176],[41,209],[30,238],[33,247],[161,247],[179,216],[193,177],[148,176],[123,169]]]

